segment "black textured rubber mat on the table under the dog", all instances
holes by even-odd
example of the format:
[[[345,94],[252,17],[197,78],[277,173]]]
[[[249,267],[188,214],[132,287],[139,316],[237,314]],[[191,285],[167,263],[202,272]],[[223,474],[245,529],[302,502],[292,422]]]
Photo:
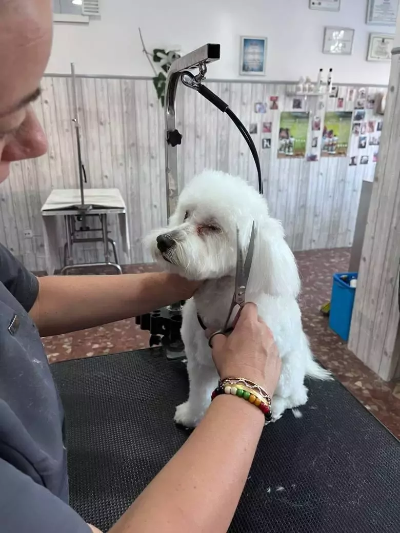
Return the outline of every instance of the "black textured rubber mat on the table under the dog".
[[[153,349],[52,372],[66,411],[71,506],[107,531],[187,438],[173,422],[186,369]],[[263,431],[229,531],[399,533],[399,441],[340,383],[309,389],[301,418],[289,411]]]

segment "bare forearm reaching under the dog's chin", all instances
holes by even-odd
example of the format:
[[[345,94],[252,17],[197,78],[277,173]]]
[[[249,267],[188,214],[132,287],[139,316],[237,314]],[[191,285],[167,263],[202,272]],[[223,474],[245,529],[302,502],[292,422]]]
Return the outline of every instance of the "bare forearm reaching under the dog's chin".
[[[42,336],[86,329],[154,311],[186,300],[187,280],[162,272],[123,276],[49,276],[39,278],[30,311]]]

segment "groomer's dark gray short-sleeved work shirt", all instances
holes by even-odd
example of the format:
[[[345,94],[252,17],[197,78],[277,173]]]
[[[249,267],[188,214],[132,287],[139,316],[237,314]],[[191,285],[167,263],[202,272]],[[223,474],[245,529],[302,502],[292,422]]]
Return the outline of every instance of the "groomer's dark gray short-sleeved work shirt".
[[[28,312],[37,278],[0,245],[0,531],[88,533],[68,506],[63,410]]]

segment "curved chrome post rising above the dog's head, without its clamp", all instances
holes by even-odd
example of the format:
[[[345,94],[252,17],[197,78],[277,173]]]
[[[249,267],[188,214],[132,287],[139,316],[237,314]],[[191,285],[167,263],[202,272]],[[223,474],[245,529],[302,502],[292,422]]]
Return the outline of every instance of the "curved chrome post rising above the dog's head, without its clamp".
[[[219,44],[205,44],[201,48],[175,60],[168,71],[165,84],[165,193],[167,219],[175,208],[178,198],[178,144],[182,135],[177,130],[175,98],[181,73],[198,68],[199,81],[203,79],[203,68],[207,63],[220,59]]]

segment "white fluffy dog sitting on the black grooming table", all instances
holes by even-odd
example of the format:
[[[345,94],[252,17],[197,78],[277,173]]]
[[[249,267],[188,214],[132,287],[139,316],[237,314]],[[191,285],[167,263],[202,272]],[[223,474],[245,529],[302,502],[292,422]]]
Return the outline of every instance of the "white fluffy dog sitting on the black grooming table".
[[[190,392],[188,401],[177,408],[175,422],[186,427],[201,420],[218,381],[197,313],[207,328],[223,327],[235,286],[236,228],[245,256],[253,220],[256,237],[246,301],[258,305],[282,358],[282,374],[271,405],[273,420],[285,409],[306,403],[305,376],[330,377],[315,362],[301,326],[299,273],[281,223],[268,215],[266,200],[242,179],[205,171],[181,193],[168,227],[147,238],[164,269],[206,280],[183,308],[181,335]]]

